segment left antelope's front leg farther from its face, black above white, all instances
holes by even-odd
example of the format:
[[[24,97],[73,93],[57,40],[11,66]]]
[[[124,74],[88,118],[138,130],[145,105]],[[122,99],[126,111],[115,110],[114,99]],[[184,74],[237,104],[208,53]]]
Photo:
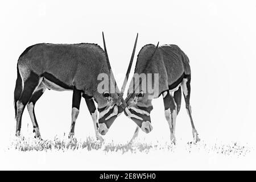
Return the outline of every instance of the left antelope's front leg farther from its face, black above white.
[[[76,119],[79,115],[79,107],[81,102],[81,91],[77,90],[74,86],[73,88],[73,97],[72,97],[72,121],[71,121],[71,129],[69,132],[68,137],[71,138],[75,134],[75,124]]]

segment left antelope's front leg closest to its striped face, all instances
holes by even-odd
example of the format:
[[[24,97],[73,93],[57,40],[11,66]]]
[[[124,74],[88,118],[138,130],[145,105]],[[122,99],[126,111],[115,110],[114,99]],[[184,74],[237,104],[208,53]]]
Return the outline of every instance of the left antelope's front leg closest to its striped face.
[[[104,141],[104,139],[101,137],[101,135],[98,133],[98,118],[97,118],[97,110],[93,101],[93,98],[87,98],[85,95],[82,97],[85,98],[86,105],[90,111],[90,115],[92,116],[93,119],[93,126],[94,126],[94,131],[96,134],[97,140],[100,140],[101,142]]]

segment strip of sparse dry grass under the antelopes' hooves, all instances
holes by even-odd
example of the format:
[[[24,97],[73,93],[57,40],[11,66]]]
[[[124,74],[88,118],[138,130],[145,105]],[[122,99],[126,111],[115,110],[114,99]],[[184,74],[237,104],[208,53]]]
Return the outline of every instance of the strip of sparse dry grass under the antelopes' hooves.
[[[190,153],[214,153],[220,155],[235,155],[235,156],[245,156],[249,154],[253,148],[249,146],[244,146],[236,142],[229,144],[223,144],[220,142],[208,143],[201,141],[199,143],[178,143],[176,145],[170,142],[161,143],[156,141],[154,143],[147,143],[144,141],[138,141],[134,143],[114,143],[112,142],[98,142],[94,138],[88,137],[84,140],[77,140],[76,138],[57,138],[53,140],[43,140],[34,138],[24,138],[18,137],[14,138],[9,146],[9,150],[18,151],[70,151],[70,150],[87,150],[87,151],[103,151],[108,152],[121,152],[125,154],[130,152],[135,154],[137,152],[148,153],[151,151],[168,151],[168,152],[187,152]]]

